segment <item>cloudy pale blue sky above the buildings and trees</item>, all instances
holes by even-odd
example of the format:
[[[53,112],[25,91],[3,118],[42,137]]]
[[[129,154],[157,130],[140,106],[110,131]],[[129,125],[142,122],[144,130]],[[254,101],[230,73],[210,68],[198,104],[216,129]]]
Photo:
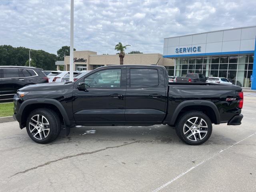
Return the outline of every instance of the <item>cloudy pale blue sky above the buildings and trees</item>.
[[[164,38],[256,25],[256,0],[74,0],[74,48],[163,53]],[[0,45],[70,45],[70,0],[0,0]]]

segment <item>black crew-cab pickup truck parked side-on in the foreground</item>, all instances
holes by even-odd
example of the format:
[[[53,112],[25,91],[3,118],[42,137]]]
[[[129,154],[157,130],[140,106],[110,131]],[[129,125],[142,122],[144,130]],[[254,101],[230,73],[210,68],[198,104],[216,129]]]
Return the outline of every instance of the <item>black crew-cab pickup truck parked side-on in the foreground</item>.
[[[26,86],[14,96],[14,118],[38,143],[56,139],[61,126],[176,126],[181,140],[204,143],[212,124],[240,125],[239,86],[168,83],[162,66],[104,66],[76,82]]]

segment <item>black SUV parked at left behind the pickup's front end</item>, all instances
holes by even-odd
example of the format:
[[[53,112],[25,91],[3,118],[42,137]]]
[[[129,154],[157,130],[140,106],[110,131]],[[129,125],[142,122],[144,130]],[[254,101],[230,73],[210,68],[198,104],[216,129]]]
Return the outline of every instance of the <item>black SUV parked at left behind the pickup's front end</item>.
[[[0,100],[12,99],[24,86],[46,82],[48,78],[40,68],[0,66]]]

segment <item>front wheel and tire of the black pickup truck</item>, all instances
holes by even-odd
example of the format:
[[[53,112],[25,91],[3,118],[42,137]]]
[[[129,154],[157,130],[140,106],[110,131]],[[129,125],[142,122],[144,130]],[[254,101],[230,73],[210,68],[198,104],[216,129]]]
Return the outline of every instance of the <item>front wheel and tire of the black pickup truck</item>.
[[[38,116],[40,120],[38,120]],[[46,144],[55,140],[60,134],[60,129],[61,123],[58,114],[49,108],[39,108],[33,110],[29,114],[26,121],[26,130],[28,132],[28,136],[34,142],[40,144]]]

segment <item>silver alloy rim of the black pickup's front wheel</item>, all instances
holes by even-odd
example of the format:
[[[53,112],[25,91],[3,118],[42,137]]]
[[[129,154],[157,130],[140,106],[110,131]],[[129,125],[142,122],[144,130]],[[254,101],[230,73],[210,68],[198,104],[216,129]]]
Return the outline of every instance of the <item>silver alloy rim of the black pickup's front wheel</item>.
[[[30,118],[29,130],[38,140],[45,139],[50,133],[50,124],[45,116],[36,114]]]

